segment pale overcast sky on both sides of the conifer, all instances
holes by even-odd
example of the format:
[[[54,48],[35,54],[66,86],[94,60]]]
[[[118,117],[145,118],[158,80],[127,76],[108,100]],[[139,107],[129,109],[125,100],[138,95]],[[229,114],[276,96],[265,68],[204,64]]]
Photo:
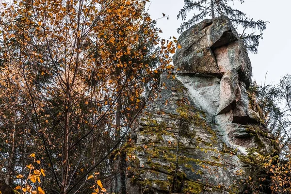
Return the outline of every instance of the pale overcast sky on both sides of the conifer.
[[[149,14],[153,19],[169,15],[169,20],[158,20],[158,27],[163,33],[162,38],[176,36],[181,20],[177,20],[178,11],[183,7],[184,0],[151,0]],[[278,83],[281,76],[291,74],[291,0],[245,0],[235,6],[255,20],[269,21],[260,41],[259,53],[249,54],[253,66],[253,80],[266,84]]]

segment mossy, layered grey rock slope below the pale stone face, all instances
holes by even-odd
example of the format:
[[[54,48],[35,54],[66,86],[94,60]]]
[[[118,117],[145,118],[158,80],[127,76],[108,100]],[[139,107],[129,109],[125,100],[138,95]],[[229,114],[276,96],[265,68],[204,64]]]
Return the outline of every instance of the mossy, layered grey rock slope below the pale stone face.
[[[198,88],[207,88],[217,85],[217,80],[211,79],[195,80],[201,81],[201,85],[197,82]],[[243,164],[224,143],[219,126],[208,122],[208,116],[195,106],[198,103],[178,79],[163,76],[162,82],[165,86],[161,97],[141,115],[133,148],[128,153],[133,186],[140,185],[147,194],[172,193],[177,176],[177,193],[193,193],[197,189],[210,192],[223,181],[235,189],[234,183],[242,178],[235,172]],[[174,85],[175,92],[169,89]],[[217,89],[218,92],[219,85]],[[165,105],[167,100],[171,100],[170,106]],[[226,171],[223,166],[231,170]]]

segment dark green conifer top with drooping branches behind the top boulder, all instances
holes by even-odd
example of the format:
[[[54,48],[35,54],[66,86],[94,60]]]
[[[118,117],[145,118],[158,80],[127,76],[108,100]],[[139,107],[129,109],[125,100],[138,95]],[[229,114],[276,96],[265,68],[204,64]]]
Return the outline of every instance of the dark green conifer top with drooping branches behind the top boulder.
[[[255,21],[252,18],[248,18],[242,11],[229,6],[229,2],[234,1],[235,0],[184,0],[184,7],[179,11],[178,18],[181,17],[183,20],[186,20],[189,12],[193,10],[197,10],[198,12],[195,12],[188,21],[183,22],[180,28],[178,28],[178,32],[181,33],[190,28],[193,24],[208,17],[228,16],[235,27],[242,27],[243,31],[240,33],[240,37],[246,48],[250,52],[257,54],[259,40],[262,39],[262,32],[266,29],[268,22],[260,19]],[[244,0],[237,1],[240,3],[244,2]],[[246,33],[247,29],[258,30],[259,33]]]

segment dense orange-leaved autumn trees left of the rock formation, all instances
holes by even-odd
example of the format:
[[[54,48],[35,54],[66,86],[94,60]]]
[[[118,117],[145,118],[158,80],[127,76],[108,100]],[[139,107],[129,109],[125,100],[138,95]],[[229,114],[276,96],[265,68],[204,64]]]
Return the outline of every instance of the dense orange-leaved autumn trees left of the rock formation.
[[[174,42],[145,0],[2,4],[0,179],[21,193],[119,192],[122,160],[109,156],[172,68]]]

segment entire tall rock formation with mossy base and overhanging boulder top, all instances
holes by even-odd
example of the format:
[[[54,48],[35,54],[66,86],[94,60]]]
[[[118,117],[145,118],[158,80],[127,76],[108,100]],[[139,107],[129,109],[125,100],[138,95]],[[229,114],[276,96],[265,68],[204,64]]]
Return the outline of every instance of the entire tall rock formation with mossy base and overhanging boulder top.
[[[132,194],[239,193],[248,150],[276,152],[248,87],[251,63],[227,17],[206,19],[178,39],[173,75],[139,116],[127,152]]]

